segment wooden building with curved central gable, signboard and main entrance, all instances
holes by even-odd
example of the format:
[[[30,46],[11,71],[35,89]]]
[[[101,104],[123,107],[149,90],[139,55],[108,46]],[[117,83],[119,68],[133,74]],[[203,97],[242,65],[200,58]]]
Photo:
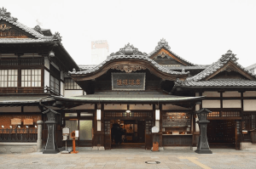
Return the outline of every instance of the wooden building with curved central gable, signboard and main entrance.
[[[210,147],[245,149],[255,141],[256,82],[236,60],[229,50],[212,65],[195,65],[174,54],[164,39],[150,54],[128,43],[94,68],[69,72],[87,95],[55,100],[72,108],[63,110],[66,126],[81,132],[90,124],[90,140],[79,138],[81,145],[151,149],[154,139],[160,147],[195,147],[200,134],[195,111],[206,108],[212,111]],[[124,144],[113,143],[115,123],[132,128]],[[154,126],[160,128],[155,138]],[[85,130],[81,135],[88,135]]]

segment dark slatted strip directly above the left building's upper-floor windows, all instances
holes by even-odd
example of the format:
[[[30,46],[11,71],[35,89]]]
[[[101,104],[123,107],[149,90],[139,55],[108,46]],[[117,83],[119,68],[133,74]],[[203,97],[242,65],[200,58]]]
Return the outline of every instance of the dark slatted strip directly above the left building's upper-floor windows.
[[[44,65],[44,58],[0,59],[0,65]]]

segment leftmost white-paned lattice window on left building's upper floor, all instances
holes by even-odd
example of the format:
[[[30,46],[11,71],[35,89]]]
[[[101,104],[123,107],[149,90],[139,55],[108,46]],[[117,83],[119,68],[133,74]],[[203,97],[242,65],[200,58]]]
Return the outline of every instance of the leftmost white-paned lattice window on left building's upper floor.
[[[18,70],[0,70],[0,87],[17,87]]]

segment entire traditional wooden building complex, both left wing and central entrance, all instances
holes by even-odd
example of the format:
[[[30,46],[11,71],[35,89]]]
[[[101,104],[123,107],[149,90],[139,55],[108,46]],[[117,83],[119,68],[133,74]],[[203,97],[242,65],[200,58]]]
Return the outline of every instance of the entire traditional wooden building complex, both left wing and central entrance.
[[[100,65],[79,68],[58,33],[21,25],[4,8],[0,47],[1,142],[35,142],[35,134],[27,138],[28,128],[36,131],[36,121],[54,120],[56,139],[50,141],[58,147],[64,145],[65,126],[79,130],[79,147],[151,149],[153,142],[160,149],[195,147],[200,136],[195,112],[204,109],[210,112],[210,148],[253,148],[256,141],[256,76],[230,50],[212,65],[195,65],[161,39],[150,54],[128,43]],[[48,112],[58,115],[47,118]],[[122,129],[122,144],[113,141],[115,127]],[[159,131],[152,133],[152,127]],[[52,133],[44,124],[44,147]]]

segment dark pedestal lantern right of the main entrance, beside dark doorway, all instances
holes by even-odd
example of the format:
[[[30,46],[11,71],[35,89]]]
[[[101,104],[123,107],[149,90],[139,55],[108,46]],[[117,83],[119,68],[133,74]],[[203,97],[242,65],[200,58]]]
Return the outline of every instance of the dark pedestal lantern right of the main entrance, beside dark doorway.
[[[207,109],[201,109],[196,112],[198,115],[199,121],[196,121],[199,124],[200,127],[200,136],[198,140],[197,149],[195,150],[195,153],[198,154],[212,154],[212,151],[209,149],[209,144],[207,141],[207,123],[210,121],[207,121],[207,114],[211,113],[212,111]]]

